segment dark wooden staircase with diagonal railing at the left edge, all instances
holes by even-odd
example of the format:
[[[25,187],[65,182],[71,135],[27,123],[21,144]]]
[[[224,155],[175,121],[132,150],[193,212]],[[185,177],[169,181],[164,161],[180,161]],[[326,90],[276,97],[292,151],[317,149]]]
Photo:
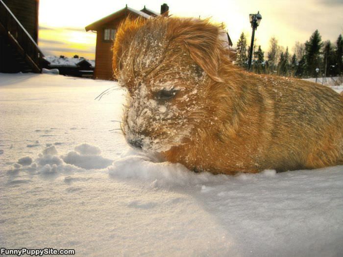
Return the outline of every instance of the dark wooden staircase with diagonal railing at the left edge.
[[[40,73],[46,62],[37,43],[0,0],[0,72]]]

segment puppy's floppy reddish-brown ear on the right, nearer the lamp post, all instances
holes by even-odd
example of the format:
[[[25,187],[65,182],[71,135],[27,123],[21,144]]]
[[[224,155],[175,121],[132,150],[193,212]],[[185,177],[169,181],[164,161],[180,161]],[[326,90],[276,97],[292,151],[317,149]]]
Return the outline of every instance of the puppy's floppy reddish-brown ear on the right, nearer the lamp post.
[[[221,62],[220,29],[208,20],[171,19],[168,33],[171,40],[179,41],[193,61],[218,82],[223,81],[218,73]]]

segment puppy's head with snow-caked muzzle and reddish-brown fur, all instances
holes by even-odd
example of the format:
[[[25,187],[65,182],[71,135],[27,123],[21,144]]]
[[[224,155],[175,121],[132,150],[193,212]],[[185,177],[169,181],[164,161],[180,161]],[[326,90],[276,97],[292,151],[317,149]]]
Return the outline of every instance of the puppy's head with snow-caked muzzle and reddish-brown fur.
[[[127,23],[114,45],[114,68],[128,92],[122,130],[132,146],[164,152],[208,118],[208,85],[220,78],[216,56],[206,51],[215,51],[218,28],[171,18]],[[194,23],[208,26],[201,42]]]

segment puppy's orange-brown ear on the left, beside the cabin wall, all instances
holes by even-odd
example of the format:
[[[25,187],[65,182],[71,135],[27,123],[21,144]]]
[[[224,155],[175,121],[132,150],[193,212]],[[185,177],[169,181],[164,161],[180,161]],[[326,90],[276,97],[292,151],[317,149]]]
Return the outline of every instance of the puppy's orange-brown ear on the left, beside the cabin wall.
[[[112,47],[112,68],[116,78],[118,78],[118,72],[123,68],[123,55],[125,55],[127,49],[130,47],[137,30],[142,27],[144,23],[145,19],[134,18],[131,16],[128,16],[122,23],[120,23],[116,33],[116,39]]]

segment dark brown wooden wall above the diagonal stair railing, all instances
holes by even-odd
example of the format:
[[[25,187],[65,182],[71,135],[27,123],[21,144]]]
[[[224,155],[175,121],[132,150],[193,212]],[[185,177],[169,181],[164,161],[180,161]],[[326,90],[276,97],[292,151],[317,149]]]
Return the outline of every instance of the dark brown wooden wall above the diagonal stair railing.
[[[38,39],[38,0],[3,0],[34,41]]]

